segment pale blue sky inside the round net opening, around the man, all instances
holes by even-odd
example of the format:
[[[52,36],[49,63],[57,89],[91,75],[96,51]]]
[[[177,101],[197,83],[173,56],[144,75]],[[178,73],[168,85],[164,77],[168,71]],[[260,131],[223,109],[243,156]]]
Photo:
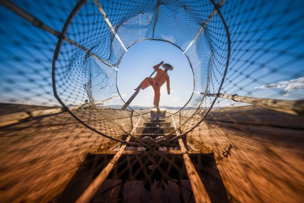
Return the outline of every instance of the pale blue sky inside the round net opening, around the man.
[[[134,93],[143,79],[154,70],[153,65],[164,61],[174,66],[168,71],[171,94],[166,85],[161,87],[160,106],[181,107],[189,100],[193,90],[193,74],[188,59],[174,45],[161,41],[142,41],[128,49],[118,66],[117,85],[119,92],[126,100]],[[155,74],[152,76],[154,77]],[[141,90],[131,105],[153,106],[154,92],[152,87]]]

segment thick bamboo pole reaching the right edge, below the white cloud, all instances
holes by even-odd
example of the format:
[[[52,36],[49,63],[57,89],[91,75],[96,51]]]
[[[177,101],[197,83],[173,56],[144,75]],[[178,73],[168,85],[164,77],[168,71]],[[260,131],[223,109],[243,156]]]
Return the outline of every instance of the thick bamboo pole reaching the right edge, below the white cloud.
[[[198,92],[198,93],[204,94],[203,92]],[[239,96],[238,94],[222,94],[222,93],[218,93],[218,94],[211,93],[211,94],[207,94],[207,96],[218,96],[221,98],[227,98],[233,101],[252,104],[255,106],[264,107],[267,109],[272,109],[275,111],[284,112],[293,115],[304,115],[304,99],[282,100],[282,99]]]

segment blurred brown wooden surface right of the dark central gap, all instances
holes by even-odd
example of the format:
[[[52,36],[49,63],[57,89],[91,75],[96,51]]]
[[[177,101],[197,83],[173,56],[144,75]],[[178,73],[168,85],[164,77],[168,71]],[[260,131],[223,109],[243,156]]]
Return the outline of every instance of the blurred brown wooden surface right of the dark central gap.
[[[303,202],[303,116],[253,106],[212,110],[187,138],[215,153],[231,202]]]

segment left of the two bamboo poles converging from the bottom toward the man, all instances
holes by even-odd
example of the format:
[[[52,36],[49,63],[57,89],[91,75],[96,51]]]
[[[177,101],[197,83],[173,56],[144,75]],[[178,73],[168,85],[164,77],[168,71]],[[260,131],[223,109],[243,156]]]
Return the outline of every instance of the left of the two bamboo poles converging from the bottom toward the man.
[[[126,139],[126,142],[128,142],[131,138],[131,134],[134,132],[136,127],[138,126],[142,116],[138,119],[136,125],[132,129],[131,133]],[[115,156],[112,158],[112,160],[108,163],[108,165],[103,169],[102,172],[94,179],[94,181],[89,185],[89,187],[83,192],[83,194],[77,199],[77,203],[85,203],[85,202],[90,202],[91,199],[93,198],[94,194],[98,190],[98,188],[104,183],[110,172],[113,170],[113,168],[116,166],[116,163],[120,156],[122,155],[123,151],[126,148],[126,144],[123,144]]]

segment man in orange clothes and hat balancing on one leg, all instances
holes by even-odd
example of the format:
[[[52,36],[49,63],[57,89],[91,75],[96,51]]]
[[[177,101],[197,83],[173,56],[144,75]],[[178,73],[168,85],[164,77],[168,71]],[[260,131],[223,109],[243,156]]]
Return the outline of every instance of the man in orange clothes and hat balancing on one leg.
[[[164,71],[162,69],[159,69],[159,66],[162,65],[164,68]],[[153,66],[153,69],[156,71],[156,76],[154,78],[145,78],[143,82],[134,90],[139,91],[140,89],[146,89],[150,85],[153,87],[154,90],[154,101],[153,105],[154,108],[159,110],[159,99],[160,99],[160,87],[166,82],[167,84],[167,92],[170,94],[170,78],[167,74],[167,71],[172,71],[173,66],[169,63],[163,63],[161,61],[160,63]]]

